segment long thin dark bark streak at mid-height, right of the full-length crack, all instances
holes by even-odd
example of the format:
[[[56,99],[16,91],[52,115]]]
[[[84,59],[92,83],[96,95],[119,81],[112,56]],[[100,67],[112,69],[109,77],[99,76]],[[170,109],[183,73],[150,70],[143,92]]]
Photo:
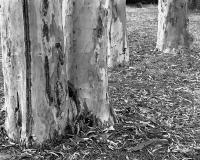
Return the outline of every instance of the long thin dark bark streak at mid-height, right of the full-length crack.
[[[44,62],[44,71],[45,71],[45,78],[46,78],[46,94],[49,99],[49,104],[53,102],[53,97],[51,96],[51,85],[50,85],[50,75],[49,75],[49,60],[48,57],[45,56]]]

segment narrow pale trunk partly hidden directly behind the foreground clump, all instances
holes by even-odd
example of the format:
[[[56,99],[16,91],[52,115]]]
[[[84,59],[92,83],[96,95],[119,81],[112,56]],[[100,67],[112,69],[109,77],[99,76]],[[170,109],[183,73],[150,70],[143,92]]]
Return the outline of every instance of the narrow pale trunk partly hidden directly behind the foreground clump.
[[[126,0],[112,0],[110,4],[108,66],[128,64],[129,49],[126,31]]]

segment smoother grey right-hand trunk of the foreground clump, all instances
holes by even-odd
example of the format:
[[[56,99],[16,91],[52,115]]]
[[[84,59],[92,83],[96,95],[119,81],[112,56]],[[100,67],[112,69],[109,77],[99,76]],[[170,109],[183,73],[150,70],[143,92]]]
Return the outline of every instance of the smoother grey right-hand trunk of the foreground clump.
[[[69,54],[70,82],[81,106],[104,124],[114,122],[108,101],[107,0],[74,1],[73,52]]]

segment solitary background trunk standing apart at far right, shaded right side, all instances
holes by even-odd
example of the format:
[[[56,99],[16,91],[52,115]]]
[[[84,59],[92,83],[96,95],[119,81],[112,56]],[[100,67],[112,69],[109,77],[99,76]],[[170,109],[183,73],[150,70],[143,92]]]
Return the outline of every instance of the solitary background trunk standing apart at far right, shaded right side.
[[[187,31],[187,23],[186,0],[159,0],[156,48],[165,53],[188,48],[191,37]]]

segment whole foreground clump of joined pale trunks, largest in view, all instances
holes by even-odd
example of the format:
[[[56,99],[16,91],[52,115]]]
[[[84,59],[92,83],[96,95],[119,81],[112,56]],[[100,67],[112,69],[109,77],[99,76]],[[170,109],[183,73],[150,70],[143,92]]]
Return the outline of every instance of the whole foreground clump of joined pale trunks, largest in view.
[[[43,143],[75,127],[80,115],[113,125],[104,3],[2,0],[1,5],[8,137]]]

